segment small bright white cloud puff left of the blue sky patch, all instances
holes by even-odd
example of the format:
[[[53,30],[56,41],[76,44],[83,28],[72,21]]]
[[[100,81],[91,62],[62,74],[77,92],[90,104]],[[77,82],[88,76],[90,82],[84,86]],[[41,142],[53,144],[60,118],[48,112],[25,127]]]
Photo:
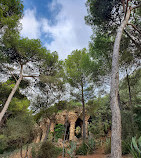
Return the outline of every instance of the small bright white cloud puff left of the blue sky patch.
[[[37,21],[36,17],[36,10],[26,10],[24,13],[24,17],[21,20],[22,23],[22,31],[21,35],[24,37],[28,37],[30,39],[37,39],[40,38],[40,23]]]

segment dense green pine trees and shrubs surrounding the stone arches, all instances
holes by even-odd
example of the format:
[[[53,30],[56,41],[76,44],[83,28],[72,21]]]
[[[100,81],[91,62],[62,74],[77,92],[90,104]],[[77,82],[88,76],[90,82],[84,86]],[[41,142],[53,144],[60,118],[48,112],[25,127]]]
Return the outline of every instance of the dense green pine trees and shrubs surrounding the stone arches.
[[[22,157],[22,147],[28,149],[40,120],[81,106],[83,145],[79,150],[86,148],[87,111],[93,139],[112,131],[105,141],[106,153],[111,151],[112,158],[127,153],[139,158],[140,1],[87,0],[84,18],[93,30],[89,47],[72,51],[65,60],[43,47],[40,39],[20,36],[22,1],[1,0],[0,4],[0,153],[21,148]],[[64,131],[59,128],[57,139]],[[48,135],[49,131],[44,143]]]

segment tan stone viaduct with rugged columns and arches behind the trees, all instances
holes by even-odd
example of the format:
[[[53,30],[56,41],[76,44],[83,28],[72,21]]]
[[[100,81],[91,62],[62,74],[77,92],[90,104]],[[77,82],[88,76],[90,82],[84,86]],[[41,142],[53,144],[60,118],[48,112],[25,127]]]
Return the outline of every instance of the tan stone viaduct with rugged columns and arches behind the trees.
[[[67,121],[67,139],[68,140],[77,140],[76,137],[76,128],[79,126],[81,129],[81,136],[83,132],[83,114],[82,114],[82,108],[76,107],[75,110],[71,111],[61,111],[58,112],[57,115],[54,117],[54,119],[47,119],[44,118],[42,121],[40,121],[40,125],[36,128],[36,137],[34,139],[34,142],[42,142],[46,136],[47,130],[50,126],[50,132],[54,132],[55,125],[62,124],[66,125]],[[86,126],[86,137],[88,136],[88,120],[90,116],[85,113],[85,126]]]

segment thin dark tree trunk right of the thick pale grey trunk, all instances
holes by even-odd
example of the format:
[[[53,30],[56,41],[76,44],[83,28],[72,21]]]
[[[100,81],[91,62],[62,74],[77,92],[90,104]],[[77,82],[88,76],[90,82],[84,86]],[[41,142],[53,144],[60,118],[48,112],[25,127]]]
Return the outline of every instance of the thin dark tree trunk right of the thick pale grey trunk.
[[[134,118],[133,118],[133,104],[132,104],[132,97],[131,97],[131,88],[130,88],[130,81],[129,81],[129,75],[127,73],[127,69],[126,69],[126,79],[127,79],[127,84],[128,84],[128,92],[129,92],[129,106],[131,108],[131,124],[132,124],[132,136],[134,136],[135,131],[134,131]]]

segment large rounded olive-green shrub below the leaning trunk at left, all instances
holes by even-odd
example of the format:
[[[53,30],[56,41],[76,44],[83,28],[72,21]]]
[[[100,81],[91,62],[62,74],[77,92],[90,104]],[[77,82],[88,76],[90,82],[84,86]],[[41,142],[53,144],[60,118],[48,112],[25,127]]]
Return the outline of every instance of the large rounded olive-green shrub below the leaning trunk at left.
[[[28,113],[20,113],[8,119],[3,129],[8,145],[6,150],[13,151],[30,143],[33,138],[33,125],[33,118]]]

